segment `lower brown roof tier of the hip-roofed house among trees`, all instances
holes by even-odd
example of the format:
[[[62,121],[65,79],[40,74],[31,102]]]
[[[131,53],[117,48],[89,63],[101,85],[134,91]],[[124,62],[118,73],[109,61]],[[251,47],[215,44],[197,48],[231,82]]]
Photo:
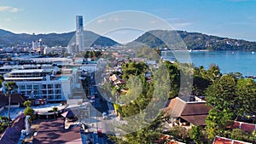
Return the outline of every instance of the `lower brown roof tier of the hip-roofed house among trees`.
[[[184,120],[186,120],[189,123],[194,124],[194,125],[207,125],[206,124],[207,114],[204,114],[204,115],[181,116],[180,118],[183,118]]]

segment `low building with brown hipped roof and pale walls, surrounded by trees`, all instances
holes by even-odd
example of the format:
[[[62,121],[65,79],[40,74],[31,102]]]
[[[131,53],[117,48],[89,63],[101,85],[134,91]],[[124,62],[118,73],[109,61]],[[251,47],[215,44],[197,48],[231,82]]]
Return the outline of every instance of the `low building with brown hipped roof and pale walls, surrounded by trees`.
[[[169,101],[165,112],[166,115],[171,116],[168,121],[171,127],[179,125],[190,129],[193,125],[205,126],[211,109],[212,107],[208,107],[206,101],[188,95]]]

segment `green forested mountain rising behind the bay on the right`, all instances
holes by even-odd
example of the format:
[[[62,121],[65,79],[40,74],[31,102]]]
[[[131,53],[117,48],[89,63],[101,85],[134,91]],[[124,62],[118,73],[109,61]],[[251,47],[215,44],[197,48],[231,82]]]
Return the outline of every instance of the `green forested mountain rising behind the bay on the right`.
[[[228,37],[209,36],[198,32],[153,30],[145,32],[133,42],[127,43],[134,46],[137,43],[148,45],[150,48],[171,49],[209,49],[209,50],[253,50],[256,42],[231,39]]]

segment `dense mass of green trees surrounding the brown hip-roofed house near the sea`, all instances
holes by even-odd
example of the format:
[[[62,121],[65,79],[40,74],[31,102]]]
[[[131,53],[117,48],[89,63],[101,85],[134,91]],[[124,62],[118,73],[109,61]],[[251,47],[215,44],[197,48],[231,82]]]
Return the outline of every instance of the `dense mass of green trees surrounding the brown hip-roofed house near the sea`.
[[[118,100],[114,107],[121,118],[131,117],[135,114],[144,117],[143,109],[148,106],[148,101],[152,100],[157,82],[153,80],[148,83],[146,81],[144,73],[151,71],[151,69],[142,62],[130,60],[128,63],[122,62],[121,64],[123,73],[117,72],[117,74],[125,79],[126,84],[119,85],[118,88],[113,87],[112,92],[118,94]],[[176,126],[163,132],[162,123],[165,122],[166,117],[160,112],[159,117],[154,119],[154,122],[157,123],[150,123],[147,127],[123,137],[110,136],[113,141],[127,144],[154,143],[154,141],[160,140],[163,134],[168,134],[179,141],[194,141],[197,144],[211,143],[216,135],[256,142],[255,130],[245,132],[229,128],[234,120],[239,119],[256,123],[255,119],[253,120],[253,115],[256,114],[256,82],[253,79],[243,78],[238,72],[223,74],[220,72],[220,68],[214,64],[209,66],[209,69],[205,69],[203,66],[195,67],[169,61],[165,61],[164,64],[169,72],[169,82],[172,85],[168,92],[169,95],[166,95],[169,99],[181,93],[186,94],[186,89],[180,86],[181,80],[183,80],[181,76],[193,73],[193,81],[187,82],[193,83],[189,95],[204,95],[207,105],[214,107],[206,119],[207,126],[193,126],[191,130]],[[154,79],[154,75],[152,77]],[[121,89],[126,89],[126,92],[122,93]],[[137,119],[128,119],[126,122],[132,125],[133,129],[140,126],[137,125],[139,123]],[[129,127],[124,129],[129,130]]]

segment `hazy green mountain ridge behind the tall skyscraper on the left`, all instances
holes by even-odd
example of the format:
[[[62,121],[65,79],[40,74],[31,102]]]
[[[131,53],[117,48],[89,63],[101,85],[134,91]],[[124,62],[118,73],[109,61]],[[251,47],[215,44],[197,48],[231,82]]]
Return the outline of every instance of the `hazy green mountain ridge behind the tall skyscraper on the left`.
[[[16,44],[22,43],[32,43],[39,38],[42,38],[43,43],[48,46],[67,46],[71,42],[75,35],[75,32],[67,33],[49,33],[49,34],[38,34],[31,35],[26,33],[15,34],[13,32],[8,32],[0,29],[0,45],[4,46],[15,46]],[[108,37],[102,37],[94,32],[84,31],[84,43],[85,46],[90,45],[102,45],[102,46],[113,46],[114,44],[119,44]]]

